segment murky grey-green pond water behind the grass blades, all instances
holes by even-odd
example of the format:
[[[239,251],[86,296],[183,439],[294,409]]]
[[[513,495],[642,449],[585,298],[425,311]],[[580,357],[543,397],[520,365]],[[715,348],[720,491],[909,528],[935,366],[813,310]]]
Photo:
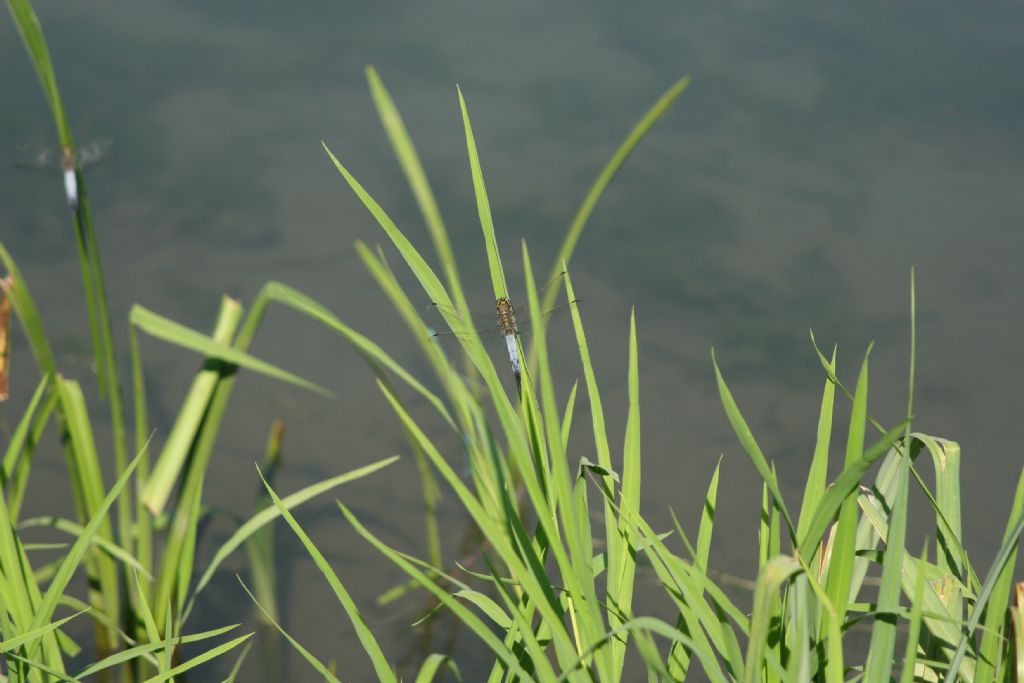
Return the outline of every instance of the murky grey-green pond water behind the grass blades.
[[[914,266],[915,427],[964,446],[968,547],[987,563],[1024,461],[1018,3],[627,10],[616,2],[117,0],[37,9],[77,136],[115,139],[89,190],[123,348],[133,302],[206,329],[220,293],[249,301],[276,279],[425,370],[352,248],[384,237],[319,144],[328,141],[427,246],[376,121],[367,63],[406,117],[480,307],[490,305],[489,288],[456,84],[469,102],[501,246],[518,272],[519,241],[547,269],[621,138],[665,87],[692,75],[601,201],[571,264],[614,443],[625,421],[629,309],[637,309],[646,509],[664,523],[671,506],[695,527],[724,453],[713,563],[752,573],[760,486],[722,415],[709,349],[717,348],[785,490],[799,495],[822,383],[808,329],[824,346],[840,345],[840,374],[851,382],[877,342],[871,412],[895,422],[906,400]],[[0,74],[0,159],[19,140],[51,143],[43,97],[7,17]],[[74,360],[88,339],[58,180],[0,164],[0,239],[55,344]],[[570,359],[567,328],[561,337],[556,351]],[[8,424],[18,394],[35,382],[26,350],[16,340],[15,398],[0,408]],[[255,351],[340,397],[245,378],[209,479],[228,484],[211,487],[215,503],[247,509],[257,485],[251,463],[275,417],[288,423],[284,490],[407,453],[371,374],[340,340],[275,312]],[[154,420],[166,430],[197,361],[155,342],[145,353]],[[68,373],[89,378],[81,365]],[[577,375],[566,367],[567,380]],[[61,456],[46,457],[35,484],[63,485]],[[339,496],[387,541],[423,554],[416,481],[406,459]],[[398,573],[349,531],[330,500],[300,519],[357,591],[389,655],[407,656],[416,641],[404,625],[419,605],[373,604]],[[454,552],[461,519],[451,506],[444,521]],[[217,523],[211,537],[227,532]],[[292,633],[337,659],[346,679],[366,680],[370,669],[341,608],[285,529],[280,539]],[[229,568],[242,567],[240,558]],[[202,623],[245,618],[250,607],[233,577],[225,571],[215,588]],[[477,649],[460,643],[470,671]],[[290,666],[290,680],[307,677],[303,665]],[[246,680],[260,680],[257,669],[253,657]]]

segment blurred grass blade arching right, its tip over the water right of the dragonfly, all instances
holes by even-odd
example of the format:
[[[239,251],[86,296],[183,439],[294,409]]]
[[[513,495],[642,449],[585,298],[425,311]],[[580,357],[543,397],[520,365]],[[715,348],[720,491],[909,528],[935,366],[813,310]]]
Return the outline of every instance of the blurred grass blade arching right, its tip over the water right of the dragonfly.
[[[594,207],[597,205],[597,201],[601,199],[601,195],[604,193],[604,188],[608,186],[611,179],[615,177],[618,169],[622,168],[626,160],[629,159],[630,154],[636,148],[640,140],[643,139],[647,131],[650,130],[658,119],[662,118],[676,98],[682,94],[686,86],[690,84],[690,77],[684,76],[666,90],[660,97],[654,102],[646,114],[637,122],[630,131],[630,134],[626,136],[623,143],[618,145],[615,154],[612,155],[611,159],[605,164],[604,168],[601,169],[601,173],[598,174],[597,179],[594,184],[591,185],[590,189],[587,191],[587,196],[583,200],[583,204],[577,210],[575,216],[572,217],[572,222],[569,224],[569,229],[565,233],[565,239],[562,241],[562,246],[558,250],[558,256],[555,257],[555,264],[551,268],[551,275],[548,281],[552,281],[558,276],[558,274],[565,269],[565,264],[572,260],[572,252],[575,251],[577,243],[580,241],[580,236],[583,233],[583,228],[587,225],[587,220],[590,218],[590,214],[593,213]],[[549,310],[552,304],[555,302],[555,297],[558,296],[558,288],[551,287],[549,292],[545,292],[543,303],[543,310]]]

